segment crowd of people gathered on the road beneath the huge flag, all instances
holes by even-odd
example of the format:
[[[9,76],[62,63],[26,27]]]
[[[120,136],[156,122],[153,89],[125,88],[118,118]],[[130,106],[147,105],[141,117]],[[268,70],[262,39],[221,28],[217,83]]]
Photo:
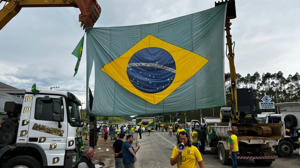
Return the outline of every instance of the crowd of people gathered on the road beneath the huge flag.
[[[87,127],[86,127],[87,128]],[[136,153],[140,149],[139,141],[136,141],[136,149],[132,146],[134,141],[134,125],[128,125],[127,127],[122,125],[120,128],[116,128],[110,125],[109,128],[104,126],[102,128],[102,135],[104,137],[104,143],[107,143],[107,137],[116,137],[113,141],[113,152],[115,157],[116,168],[134,168],[134,163],[137,161]],[[146,127],[148,136],[150,136],[152,127],[150,124]],[[84,130],[85,131],[85,130]],[[141,127],[138,128],[140,139],[142,138]],[[183,143],[185,149],[179,150],[177,146],[174,147],[172,155],[170,157],[171,165],[177,164],[177,167],[196,167],[195,163],[199,164],[200,168],[204,168],[202,155],[205,155],[205,140],[206,130],[205,127],[198,126],[192,128],[190,137],[190,128],[187,124],[164,124],[158,123],[155,125],[156,132],[169,132],[169,135],[176,135],[177,145]],[[232,134],[232,130],[228,129],[227,134],[229,135],[228,147],[229,155],[232,156],[232,167],[237,167],[236,155],[238,153],[238,139]],[[125,138],[125,141],[124,141]],[[200,143],[199,143],[200,141]],[[200,145],[200,146],[199,146]],[[201,155],[202,154],[202,155]],[[77,164],[79,168],[94,168],[91,160],[94,156],[94,149],[87,146],[85,147],[84,154]]]

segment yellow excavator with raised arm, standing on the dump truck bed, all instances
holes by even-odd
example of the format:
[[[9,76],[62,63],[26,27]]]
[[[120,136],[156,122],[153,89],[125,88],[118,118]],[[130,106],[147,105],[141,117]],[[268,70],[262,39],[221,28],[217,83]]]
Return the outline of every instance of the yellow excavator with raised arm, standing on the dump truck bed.
[[[232,133],[235,135],[253,135],[257,134],[262,137],[272,136],[272,130],[269,126],[262,124],[262,120],[257,118],[256,109],[256,91],[253,88],[238,88],[236,85],[236,74],[234,65],[234,47],[235,42],[232,42],[230,34],[230,19],[236,18],[235,0],[218,1],[215,6],[227,2],[225,31],[227,39],[228,54],[226,56],[229,60],[230,78],[231,78],[231,107],[224,107],[220,109],[220,122],[227,123],[231,121]]]

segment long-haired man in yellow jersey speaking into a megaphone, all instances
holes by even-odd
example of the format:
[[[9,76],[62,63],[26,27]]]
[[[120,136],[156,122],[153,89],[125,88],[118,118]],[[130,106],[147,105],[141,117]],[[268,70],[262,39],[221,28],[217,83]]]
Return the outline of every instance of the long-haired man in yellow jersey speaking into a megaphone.
[[[200,168],[204,168],[202,156],[199,150],[192,146],[189,135],[182,131],[179,132],[177,146],[174,147],[171,155],[171,165],[177,164],[178,168],[197,168],[196,161]]]

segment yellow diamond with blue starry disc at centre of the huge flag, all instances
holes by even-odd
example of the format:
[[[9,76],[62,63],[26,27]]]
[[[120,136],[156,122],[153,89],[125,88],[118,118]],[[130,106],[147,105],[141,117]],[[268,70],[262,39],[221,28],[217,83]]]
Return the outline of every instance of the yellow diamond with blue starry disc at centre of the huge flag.
[[[158,104],[209,60],[149,34],[101,71],[119,85]]]

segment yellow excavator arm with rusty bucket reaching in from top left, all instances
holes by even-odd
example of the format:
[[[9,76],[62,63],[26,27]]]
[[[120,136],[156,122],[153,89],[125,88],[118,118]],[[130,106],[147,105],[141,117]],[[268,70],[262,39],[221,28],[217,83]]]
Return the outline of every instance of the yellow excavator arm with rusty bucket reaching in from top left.
[[[22,7],[76,7],[79,8],[79,22],[85,28],[93,27],[98,20],[101,7],[97,0],[0,0],[5,2],[0,10],[0,30],[16,16]]]

